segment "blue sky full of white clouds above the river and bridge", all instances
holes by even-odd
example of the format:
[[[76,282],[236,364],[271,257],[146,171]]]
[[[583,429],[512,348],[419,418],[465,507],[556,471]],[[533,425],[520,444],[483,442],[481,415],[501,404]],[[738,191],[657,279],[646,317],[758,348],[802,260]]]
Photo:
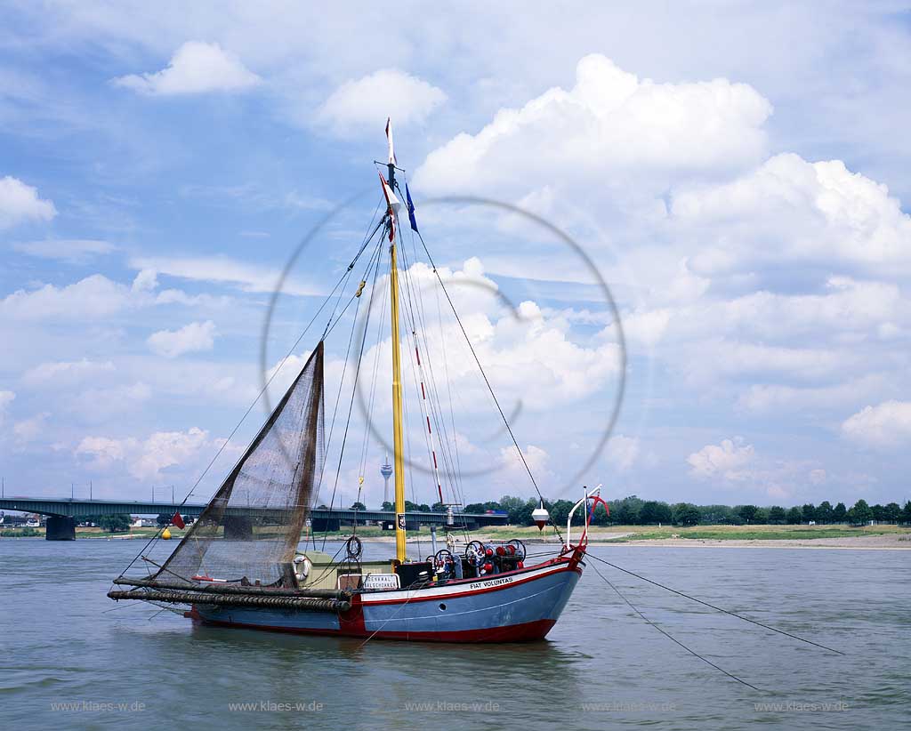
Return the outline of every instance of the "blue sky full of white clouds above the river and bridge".
[[[315,345],[312,331],[292,348],[374,215],[392,117],[421,232],[545,495],[911,499],[911,4],[3,15],[6,495],[208,497],[263,419],[261,349],[270,375],[292,351],[274,403]],[[453,196],[538,220],[440,200]],[[327,216],[264,331],[282,270]],[[419,244],[403,242],[423,324],[442,333],[418,340],[448,420],[438,449],[472,473],[458,497],[534,494]],[[377,303],[385,286],[381,272]],[[382,499],[382,327],[359,381],[377,394],[375,431],[355,409],[333,456],[361,322],[347,312],[326,340],[321,502],[334,489],[350,504],[362,476],[363,501]],[[433,503],[405,350],[409,497]]]

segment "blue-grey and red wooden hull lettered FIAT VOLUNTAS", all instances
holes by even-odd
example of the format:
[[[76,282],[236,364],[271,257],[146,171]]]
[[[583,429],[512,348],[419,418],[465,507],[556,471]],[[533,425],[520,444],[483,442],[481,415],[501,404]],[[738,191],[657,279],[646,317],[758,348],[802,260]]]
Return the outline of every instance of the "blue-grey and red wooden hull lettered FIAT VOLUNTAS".
[[[584,564],[560,558],[485,579],[355,594],[342,614],[196,605],[202,624],[418,642],[527,642],[557,623]]]

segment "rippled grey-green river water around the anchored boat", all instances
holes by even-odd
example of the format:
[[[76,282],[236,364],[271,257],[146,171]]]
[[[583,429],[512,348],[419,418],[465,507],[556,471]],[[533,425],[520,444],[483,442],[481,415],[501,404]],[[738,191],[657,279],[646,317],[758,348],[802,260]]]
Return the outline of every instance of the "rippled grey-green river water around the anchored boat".
[[[528,645],[197,627],[107,599],[140,546],[0,540],[0,726],[892,729],[911,719],[907,552],[592,549],[844,652],[834,655],[595,562],[548,640]],[[389,551],[365,548],[365,558]],[[683,645],[760,690],[646,624],[593,566]]]

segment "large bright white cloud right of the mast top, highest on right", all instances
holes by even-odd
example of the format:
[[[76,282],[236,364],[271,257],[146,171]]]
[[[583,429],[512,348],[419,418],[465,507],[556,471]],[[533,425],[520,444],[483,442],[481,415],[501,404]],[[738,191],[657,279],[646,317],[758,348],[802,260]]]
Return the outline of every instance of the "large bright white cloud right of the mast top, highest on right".
[[[554,170],[611,186],[630,178],[641,185],[657,172],[666,181],[738,169],[761,159],[771,113],[745,84],[656,84],[605,56],[585,56],[570,90],[555,87],[521,109],[500,109],[476,135],[460,134],[431,152],[415,188],[476,189],[483,181],[502,194],[552,180]]]

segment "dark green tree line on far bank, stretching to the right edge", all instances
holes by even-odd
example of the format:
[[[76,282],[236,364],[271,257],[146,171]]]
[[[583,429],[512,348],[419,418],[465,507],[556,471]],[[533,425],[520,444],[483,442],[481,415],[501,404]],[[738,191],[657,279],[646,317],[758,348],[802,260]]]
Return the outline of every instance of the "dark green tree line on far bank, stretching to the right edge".
[[[466,513],[485,513],[488,510],[504,511],[513,525],[532,525],[531,513],[538,506],[537,498],[524,500],[506,495],[498,502],[471,503],[465,506]],[[819,505],[806,503],[784,508],[781,505],[694,505],[692,503],[663,503],[656,500],[642,500],[630,495],[621,500],[610,500],[610,515],[599,505],[592,516],[594,525],[799,525],[816,523],[828,525],[847,523],[865,525],[875,523],[902,523],[911,525],[911,501],[903,508],[898,503],[868,505],[858,500],[848,508],[844,503],[832,505],[824,500]],[[413,503],[412,503],[413,504]],[[544,501],[554,523],[566,524],[569,511],[575,504],[569,500]],[[407,505],[407,503],[406,503]],[[422,505],[409,510],[425,509]],[[434,506],[436,508],[436,506]],[[580,516],[577,514],[577,519]]]

